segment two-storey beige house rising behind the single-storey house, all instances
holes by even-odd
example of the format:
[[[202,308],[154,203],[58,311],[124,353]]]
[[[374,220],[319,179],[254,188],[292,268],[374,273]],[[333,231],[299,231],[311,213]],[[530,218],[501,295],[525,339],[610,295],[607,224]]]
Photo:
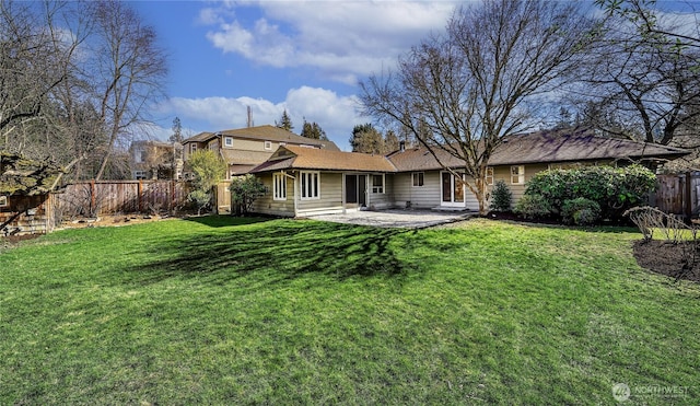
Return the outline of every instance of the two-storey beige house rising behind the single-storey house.
[[[332,141],[301,137],[285,129],[269,125],[219,132],[201,132],[186,139],[183,144],[185,147],[185,162],[197,150],[210,149],[218,151],[229,164],[226,179],[248,173],[267,161],[280,147],[298,146],[339,151]]]

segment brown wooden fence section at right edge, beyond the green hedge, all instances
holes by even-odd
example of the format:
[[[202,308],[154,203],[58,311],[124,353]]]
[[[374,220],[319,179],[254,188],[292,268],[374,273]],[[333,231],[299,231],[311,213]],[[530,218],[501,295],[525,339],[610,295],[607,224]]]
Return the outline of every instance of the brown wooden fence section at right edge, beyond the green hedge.
[[[651,206],[660,210],[690,219],[700,211],[700,172],[675,175],[657,175],[657,187]]]

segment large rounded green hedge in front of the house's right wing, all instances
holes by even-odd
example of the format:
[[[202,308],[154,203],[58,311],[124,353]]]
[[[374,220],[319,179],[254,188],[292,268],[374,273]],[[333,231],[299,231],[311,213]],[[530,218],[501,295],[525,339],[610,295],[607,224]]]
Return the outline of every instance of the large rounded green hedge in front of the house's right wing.
[[[527,183],[525,196],[542,197],[559,216],[567,200],[585,198],[598,204],[603,219],[619,220],[625,210],[645,202],[655,186],[656,175],[641,165],[586,166],[540,172]]]

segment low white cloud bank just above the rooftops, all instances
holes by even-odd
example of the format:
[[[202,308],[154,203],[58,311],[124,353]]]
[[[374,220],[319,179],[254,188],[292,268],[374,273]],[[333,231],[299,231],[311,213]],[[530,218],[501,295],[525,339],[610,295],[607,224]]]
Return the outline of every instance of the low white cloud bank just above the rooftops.
[[[338,147],[349,150],[348,139],[358,124],[371,121],[359,112],[355,96],[340,96],[336,92],[301,86],[292,89],[281,102],[253,97],[172,97],[160,104],[155,112],[160,116],[179,117],[183,126],[197,128],[194,132],[243,128],[247,125],[247,106],[250,106],[256,126],[275,125],[287,109],[293,131],[299,134],[304,119],[318,123],[328,138]],[[171,134],[170,129],[161,134]],[[165,137],[166,138],[166,137]]]

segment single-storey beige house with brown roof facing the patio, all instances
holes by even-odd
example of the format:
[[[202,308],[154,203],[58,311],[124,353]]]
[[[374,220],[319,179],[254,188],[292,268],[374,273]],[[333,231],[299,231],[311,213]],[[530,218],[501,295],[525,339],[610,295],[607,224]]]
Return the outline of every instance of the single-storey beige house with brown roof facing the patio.
[[[595,137],[587,134],[538,132],[513,136],[493,153],[488,185],[503,179],[515,201],[536,173],[555,167],[597,164],[664,163],[689,151]],[[441,161],[459,172],[458,159],[441,153]],[[280,148],[252,173],[269,193],[254,210],[276,216],[343,212],[362,207],[478,210],[474,194],[444,171],[424,148],[401,149],[387,156],[354,152],[319,152]]]

